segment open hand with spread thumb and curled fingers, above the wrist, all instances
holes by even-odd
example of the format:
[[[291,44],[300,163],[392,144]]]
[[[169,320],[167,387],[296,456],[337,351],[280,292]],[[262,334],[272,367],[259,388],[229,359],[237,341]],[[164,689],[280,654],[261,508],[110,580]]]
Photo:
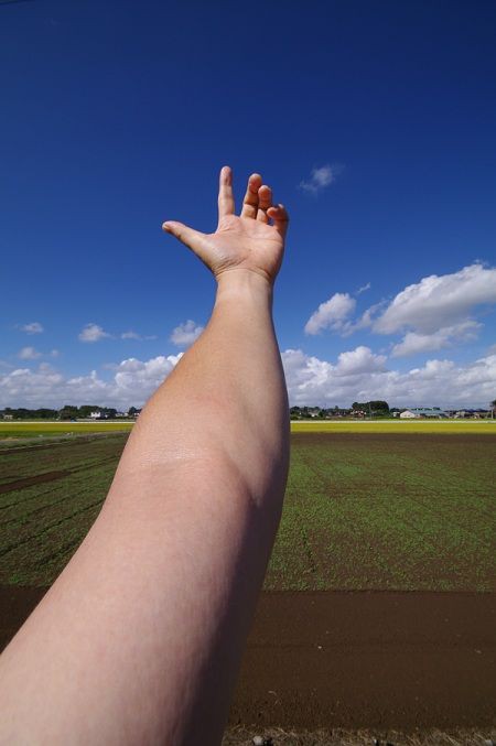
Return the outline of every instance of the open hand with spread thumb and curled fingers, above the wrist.
[[[218,225],[215,234],[202,234],[182,223],[168,220],[162,228],[192,249],[216,279],[225,272],[250,270],[273,284],[282,262],[289,218],[282,205],[272,205],[272,190],[251,174],[241,214],[234,214],[233,173],[220,171]]]

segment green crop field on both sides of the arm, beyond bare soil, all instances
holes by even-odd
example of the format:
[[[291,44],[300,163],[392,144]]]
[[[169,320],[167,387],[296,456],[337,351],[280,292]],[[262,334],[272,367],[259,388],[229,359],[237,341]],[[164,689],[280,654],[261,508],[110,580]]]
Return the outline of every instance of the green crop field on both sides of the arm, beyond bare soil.
[[[484,425],[455,436],[323,424],[334,432],[292,435],[266,588],[496,590],[496,437]],[[111,428],[0,451],[1,584],[50,585],[64,567],[125,445]]]

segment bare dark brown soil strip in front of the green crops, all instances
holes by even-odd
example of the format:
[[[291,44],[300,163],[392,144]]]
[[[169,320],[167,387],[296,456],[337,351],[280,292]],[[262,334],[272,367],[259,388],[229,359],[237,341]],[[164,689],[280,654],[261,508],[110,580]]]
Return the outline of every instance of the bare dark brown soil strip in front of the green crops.
[[[0,588],[2,647],[44,592]],[[496,594],[265,592],[229,723],[257,733],[487,729],[495,671]]]

